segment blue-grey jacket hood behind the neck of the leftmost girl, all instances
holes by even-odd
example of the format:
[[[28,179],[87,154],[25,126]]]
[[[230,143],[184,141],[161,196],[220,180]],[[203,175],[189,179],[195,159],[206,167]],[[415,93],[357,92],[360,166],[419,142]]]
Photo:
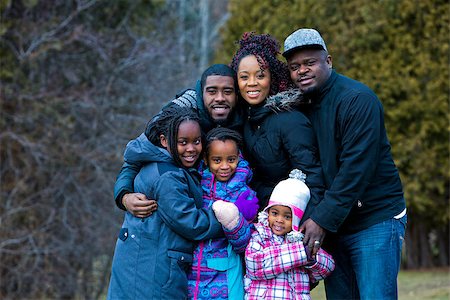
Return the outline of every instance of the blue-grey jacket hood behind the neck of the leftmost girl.
[[[131,164],[173,161],[166,149],[153,145],[143,133],[138,138],[128,142],[124,160]]]

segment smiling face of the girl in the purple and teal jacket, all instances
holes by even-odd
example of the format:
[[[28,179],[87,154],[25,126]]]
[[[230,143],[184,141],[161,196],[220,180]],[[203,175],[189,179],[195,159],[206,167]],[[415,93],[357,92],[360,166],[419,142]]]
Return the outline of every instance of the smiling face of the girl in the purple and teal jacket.
[[[235,141],[212,141],[207,155],[205,162],[217,181],[226,182],[236,172],[239,151]]]

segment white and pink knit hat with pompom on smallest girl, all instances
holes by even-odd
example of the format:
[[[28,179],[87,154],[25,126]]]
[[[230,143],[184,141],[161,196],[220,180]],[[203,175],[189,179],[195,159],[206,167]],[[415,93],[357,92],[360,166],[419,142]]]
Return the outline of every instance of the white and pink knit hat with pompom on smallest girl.
[[[292,229],[298,231],[300,220],[311,197],[309,188],[305,184],[306,175],[294,169],[289,178],[280,181],[270,195],[265,212],[274,205],[288,206],[292,210]]]

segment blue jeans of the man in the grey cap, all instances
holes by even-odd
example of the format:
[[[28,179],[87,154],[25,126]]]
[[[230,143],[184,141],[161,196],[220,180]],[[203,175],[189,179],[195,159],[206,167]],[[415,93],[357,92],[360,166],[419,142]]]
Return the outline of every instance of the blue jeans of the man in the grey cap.
[[[325,279],[327,299],[397,299],[397,275],[407,216],[339,235],[336,269]]]

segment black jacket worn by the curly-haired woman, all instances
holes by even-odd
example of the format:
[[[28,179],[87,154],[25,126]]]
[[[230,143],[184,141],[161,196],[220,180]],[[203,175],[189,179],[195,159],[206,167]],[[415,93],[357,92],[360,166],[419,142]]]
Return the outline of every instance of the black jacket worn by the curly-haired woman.
[[[324,184],[317,143],[310,121],[299,111],[275,112],[269,107],[249,107],[244,124],[245,157],[254,169],[251,185],[263,209],[275,185],[292,169],[306,174],[311,199],[306,220],[322,200]]]

